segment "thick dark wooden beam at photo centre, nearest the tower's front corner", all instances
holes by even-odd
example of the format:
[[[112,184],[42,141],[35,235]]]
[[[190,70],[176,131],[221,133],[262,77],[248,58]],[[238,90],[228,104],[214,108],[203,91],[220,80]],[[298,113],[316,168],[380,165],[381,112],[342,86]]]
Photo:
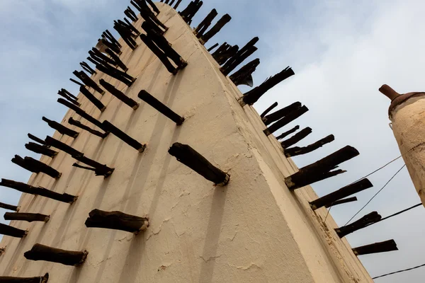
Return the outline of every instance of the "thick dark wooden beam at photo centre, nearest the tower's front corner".
[[[177,161],[180,161],[196,173],[202,175],[205,179],[215,183],[215,185],[225,186],[229,183],[229,174],[213,166],[210,161],[187,144],[176,142],[170,147],[169,154],[176,157]]]

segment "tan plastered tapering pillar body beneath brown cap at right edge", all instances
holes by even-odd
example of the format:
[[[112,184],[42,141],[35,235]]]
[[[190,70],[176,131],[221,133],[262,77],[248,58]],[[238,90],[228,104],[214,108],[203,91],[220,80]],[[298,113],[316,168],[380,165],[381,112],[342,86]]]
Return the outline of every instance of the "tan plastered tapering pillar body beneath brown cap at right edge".
[[[425,98],[409,98],[392,110],[392,131],[410,178],[425,205]]]

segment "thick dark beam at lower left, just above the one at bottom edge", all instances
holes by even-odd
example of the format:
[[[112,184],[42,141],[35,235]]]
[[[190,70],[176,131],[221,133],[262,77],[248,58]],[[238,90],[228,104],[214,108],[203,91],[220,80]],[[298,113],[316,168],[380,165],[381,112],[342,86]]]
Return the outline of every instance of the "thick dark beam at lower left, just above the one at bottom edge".
[[[24,253],[27,260],[44,260],[48,262],[62,263],[62,265],[81,265],[87,258],[87,250],[73,251],[60,250],[36,243],[31,250]]]

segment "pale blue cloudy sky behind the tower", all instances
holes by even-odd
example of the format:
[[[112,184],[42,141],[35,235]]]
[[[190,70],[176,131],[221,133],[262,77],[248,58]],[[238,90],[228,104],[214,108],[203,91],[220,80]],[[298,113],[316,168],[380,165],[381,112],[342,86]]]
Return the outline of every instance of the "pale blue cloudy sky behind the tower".
[[[287,66],[295,76],[266,93],[254,106],[262,112],[277,101],[295,101],[310,111],[291,123],[311,127],[313,133],[297,146],[329,134],[336,140],[312,154],[295,157],[297,166],[313,163],[346,145],[360,156],[341,165],[347,173],[313,185],[319,196],[344,187],[399,156],[389,127],[390,104],[378,88],[387,83],[399,93],[425,91],[425,1],[419,0],[205,0],[197,25],[216,8],[232,21],[208,42],[242,46],[260,38],[260,58],[254,85]],[[183,0],[179,9],[186,7]],[[52,129],[42,122],[62,120],[66,108],[57,104],[57,90],[77,93],[69,81],[103,30],[113,31],[113,20],[123,18],[129,1],[118,0],[2,0],[0,1],[0,177],[26,182],[28,171],[11,163],[15,154],[39,158],[27,151],[28,133],[42,139]],[[241,90],[248,91],[248,87]],[[399,158],[370,176],[374,187],[357,195],[358,202],[331,209],[344,226],[358,209],[403,166]],[[19,194],[0,187],[0,201],[17,204]],[[418,204],[407,169],[385,187],[355,219],[373,211],[387,216]],[[0,215],[4,210],[0,209]],[[372,277],[425,263],[424,207],[347,236],[351,246],[394,238],[399,251],[364,255],[360,259]],[[3,223],[3,220],[0,220]],[[425,268],[376,279],[375,282],[424,282]]]

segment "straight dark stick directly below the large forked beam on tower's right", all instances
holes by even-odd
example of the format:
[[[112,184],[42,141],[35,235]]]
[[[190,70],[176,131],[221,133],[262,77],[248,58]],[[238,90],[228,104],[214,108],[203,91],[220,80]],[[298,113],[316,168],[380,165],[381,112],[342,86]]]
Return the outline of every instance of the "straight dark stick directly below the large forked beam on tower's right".
[[[327,204],[332,204],[336,202],[337,200],[341,200],[344,197],[348,197],[350,195],[354,195],[363,190],[367,190],[370,187],[373,187],[372,183],[370,183],[370,180],[368,179],[359,180],[356,183],[353,183],[351,185],[346,185],[345,187],[341,187],[341,189],[336,190],[335,192],[331,192],[329,195],[325,195],[323,197],[320,197],[317,200],[310,202],[310,207],[313,210],[319,209],[320,207],[324,207]]]

